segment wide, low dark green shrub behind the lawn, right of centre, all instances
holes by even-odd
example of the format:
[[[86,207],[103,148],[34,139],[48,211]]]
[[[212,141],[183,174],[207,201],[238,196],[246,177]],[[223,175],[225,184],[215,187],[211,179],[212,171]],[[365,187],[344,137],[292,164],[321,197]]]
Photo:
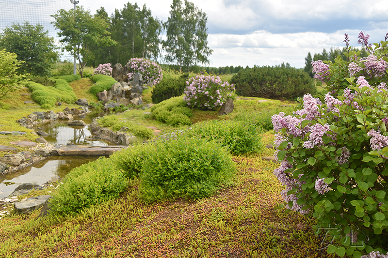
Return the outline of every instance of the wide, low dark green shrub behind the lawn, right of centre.
[[[294,100],[316,92],[314,79],[295,68],[255,66],[241,70],[230,82],[240,96]]]

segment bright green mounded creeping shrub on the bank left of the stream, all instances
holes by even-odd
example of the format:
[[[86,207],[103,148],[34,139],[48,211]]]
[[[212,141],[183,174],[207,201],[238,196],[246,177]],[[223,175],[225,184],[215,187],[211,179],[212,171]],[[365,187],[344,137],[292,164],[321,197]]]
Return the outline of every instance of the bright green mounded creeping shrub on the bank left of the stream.
[[[55,79],[55,84],[53,86],[43,86],[35,82],[27,82],[26,86],[32,91],[32,99],[41,105],[42,108],[49,109],[55,105],[57,101],[65,103],[74,103],[77,100],[77,97],[67,83],[66,80],[76,79],[77,77],[67,77],[67,76],[56,76],[57,78],[51,77],[50,79]]]

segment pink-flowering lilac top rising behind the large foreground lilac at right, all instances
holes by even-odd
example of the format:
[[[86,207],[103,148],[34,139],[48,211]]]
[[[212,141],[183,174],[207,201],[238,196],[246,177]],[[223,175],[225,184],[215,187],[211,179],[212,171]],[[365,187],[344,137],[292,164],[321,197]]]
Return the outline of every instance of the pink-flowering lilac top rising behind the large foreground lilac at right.
[[[347,57],[347,61],[343,60],[341,56],[337,57],[334,63],[321,60],[312,61],[314,78],[320,82],[325,82],[330,90],[347,88],[348,82],[345,78],[351,77],[363,76],[374,87],[384,83],[388,79],[388,58],[384,54],[387,52],[387,39],[388,33],[385,36],[385,41],[372,45],[369,43],[369,35],[361,31],[358,34],[357,43],[366,48],[369,56],[359,58],[361,51],[354,51],[352,46],[349,46],[348,34],[345,34],[344,42],[347,51],[344,55]]]

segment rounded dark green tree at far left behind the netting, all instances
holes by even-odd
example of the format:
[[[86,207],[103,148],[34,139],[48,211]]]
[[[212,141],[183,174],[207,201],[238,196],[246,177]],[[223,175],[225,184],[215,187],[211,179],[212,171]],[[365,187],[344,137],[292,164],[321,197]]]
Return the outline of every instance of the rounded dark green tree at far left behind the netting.
[[[35,76],[48,76],[53,64],[58,61],[58,47],[48,30],[40,24],[32,25],[25,21],[6,27],[0,34],[0,49],[15,53],[20,63],[21,73]]]

